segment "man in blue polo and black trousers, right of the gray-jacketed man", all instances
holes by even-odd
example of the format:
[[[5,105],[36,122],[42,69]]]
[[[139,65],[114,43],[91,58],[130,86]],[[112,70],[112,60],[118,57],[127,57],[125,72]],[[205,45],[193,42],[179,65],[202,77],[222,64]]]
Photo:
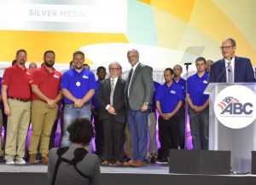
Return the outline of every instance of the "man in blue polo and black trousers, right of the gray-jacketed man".
[[[179,123],[177,111],[182,107],[184,93],[181,86],[173,82],[172,68],[164,72],[165,84],[160,85],[156,92],[156,108],[160,113],[158,119],[162,157],[158,162],[168,162],[168,149],[178,147]]]

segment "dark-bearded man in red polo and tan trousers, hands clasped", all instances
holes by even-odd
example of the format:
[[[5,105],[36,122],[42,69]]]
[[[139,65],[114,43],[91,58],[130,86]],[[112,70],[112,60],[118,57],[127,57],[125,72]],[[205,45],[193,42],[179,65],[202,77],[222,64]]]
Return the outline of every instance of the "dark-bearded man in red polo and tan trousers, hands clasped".
[[[53,67],[55,53],[45,51],[44,65],[32,72],[32,134],[29,145],[29,163],[37,164],[38,142],[41,137],[42,163],[48,164],[49,136],[61,101],[61,72]]]

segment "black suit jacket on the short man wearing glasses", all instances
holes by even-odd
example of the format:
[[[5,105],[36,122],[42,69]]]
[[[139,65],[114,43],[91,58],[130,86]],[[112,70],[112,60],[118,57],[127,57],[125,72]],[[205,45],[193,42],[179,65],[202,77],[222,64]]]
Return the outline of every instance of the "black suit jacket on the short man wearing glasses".
[[[125,109],[125,84],[126,81],[119,77],[115,88],[113,91],[113,108],[116,111],[116,114],[114,115],[114,119],[116,122],[119,123],[126,123],[126,109]],[[106,110],[106,107],[108,104],[110,105],[110,78],[104,79],[101,81],[97,100],[100,103],[101,110],[100,110],[100,119],[109,119],[111,118],[111,114],[108,113]]]

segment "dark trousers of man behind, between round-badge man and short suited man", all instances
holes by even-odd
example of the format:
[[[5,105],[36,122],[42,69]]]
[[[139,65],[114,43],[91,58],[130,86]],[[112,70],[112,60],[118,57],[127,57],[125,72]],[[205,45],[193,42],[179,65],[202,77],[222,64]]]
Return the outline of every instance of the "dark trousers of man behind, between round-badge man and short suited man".
[[[96,136],[95,136],[96,155],[102,156],[104,136],[103,136],[102,120],[99,119],[99,111],[96,111],[96,110],[94,111],[93,119],[94,119],[94,127],[96,132]]]

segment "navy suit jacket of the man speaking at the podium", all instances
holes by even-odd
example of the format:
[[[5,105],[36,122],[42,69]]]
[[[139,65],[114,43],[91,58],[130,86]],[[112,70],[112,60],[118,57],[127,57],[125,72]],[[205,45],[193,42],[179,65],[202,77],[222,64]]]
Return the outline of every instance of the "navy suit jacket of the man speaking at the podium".
[[[234,82],[255,82],[253,66],[249,59],[245,57],[235,56],[235,73]],[[225,69],[225,61],[221,59],[212,64],[209,83],[211,82],[227,82]]]

